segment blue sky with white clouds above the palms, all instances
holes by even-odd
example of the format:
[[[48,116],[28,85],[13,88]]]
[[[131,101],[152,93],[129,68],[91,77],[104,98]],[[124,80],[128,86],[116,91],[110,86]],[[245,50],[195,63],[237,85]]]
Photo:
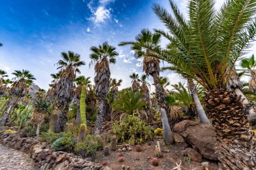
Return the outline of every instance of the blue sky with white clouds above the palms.
[[[134,40],[143,28],[164,28],[151,9],[153,3],[168,9],[168,0],[1,0],[0,69],[9,75],[28,69],[36,77],[35,83],[48,89],[61,52],[71,50],[86,62],[80,68],[82,75],[93,80],[90,46],[108,41],[119,52],[116,65],[110,66],[111,77],[123,79],[122,87],[128,87],[131,73],[142,74],[141,61],[128,46],[117,44]],[[186,3],[177,0],[184,13]],[[221,3],[218,0],[216,7]],[[174,73],[161,74],[172,84],[183,81]]]

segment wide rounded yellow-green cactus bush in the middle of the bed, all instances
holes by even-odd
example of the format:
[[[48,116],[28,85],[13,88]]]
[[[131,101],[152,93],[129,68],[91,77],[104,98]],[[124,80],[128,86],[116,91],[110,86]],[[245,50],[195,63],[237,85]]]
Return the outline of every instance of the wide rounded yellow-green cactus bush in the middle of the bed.
[[[151,127],[147,126],[146,122],[143,122],[135,114],[125,116],[120,124],[115,122],[113,132],[117,134],[117,141],[119,143],[129,142],[133,135],[136,138],[136,143],[142,143],[153,138]]]

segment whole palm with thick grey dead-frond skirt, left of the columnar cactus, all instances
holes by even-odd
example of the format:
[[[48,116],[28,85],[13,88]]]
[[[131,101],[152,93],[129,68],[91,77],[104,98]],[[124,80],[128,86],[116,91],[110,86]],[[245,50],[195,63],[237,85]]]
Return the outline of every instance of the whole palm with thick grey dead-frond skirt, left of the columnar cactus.
[[[57,69],[61,69],[61,73],[54,89],[55,106],[59,108],[57,132],[64,127],[67,120],[66,113],[74,95],[73,82],[75,81],[77,73],[81,73],[78,68],[85,65],[85,62],[80,60],[80,55],[71,51],[61,52],[61,58],[62,59],[57,62],[59,66]]]

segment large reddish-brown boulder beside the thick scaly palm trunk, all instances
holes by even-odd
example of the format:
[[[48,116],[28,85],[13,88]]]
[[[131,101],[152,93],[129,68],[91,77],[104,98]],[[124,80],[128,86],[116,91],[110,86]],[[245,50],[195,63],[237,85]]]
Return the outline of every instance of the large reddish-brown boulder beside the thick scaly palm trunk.
[[[183,136],[184,140],[191,144],[193,149],[198,151],[203,157],[214,161],[218,160],[214,127],[191,120],[184,120],[176,124],[174,130]]]

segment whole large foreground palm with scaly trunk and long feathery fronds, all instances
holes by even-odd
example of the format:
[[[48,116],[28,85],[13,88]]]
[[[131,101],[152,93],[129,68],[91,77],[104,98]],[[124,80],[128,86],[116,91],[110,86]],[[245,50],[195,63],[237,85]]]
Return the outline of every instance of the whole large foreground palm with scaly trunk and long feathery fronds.
[[[255,169],[251,154],[255,153],[255,137],[249,130],[240,98],[226,86],[236,61],[255,38],[256,2],[229,0],[216,12],[213,0],[191,0],[189,21],[174,1],[170,0],[170,6],[173,14],[160,5],[153,7],[168,29],[155,30],[169,40],[167,48],[152,48],[150,44],[144,44],[144,48],[172,64],[172,70],[207,89],[205,107],[218,135],[220,168]]]

